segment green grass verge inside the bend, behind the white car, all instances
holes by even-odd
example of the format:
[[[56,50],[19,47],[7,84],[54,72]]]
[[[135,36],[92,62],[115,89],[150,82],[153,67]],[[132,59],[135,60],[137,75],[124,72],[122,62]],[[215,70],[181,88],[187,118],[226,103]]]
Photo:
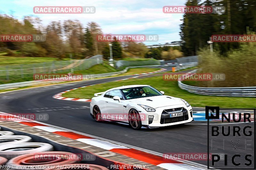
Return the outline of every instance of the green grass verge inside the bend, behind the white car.
[[[205,107],[205,106],[219,106],[219,107],[256,107],[256,99],[250,97],[221,97],[221,96],[206,96],[200,94],[194,94],[182,90],[178,87],[177,81],[164,81],[161,77],[143,78],[143,79],[129,79],[118,82],[110,82],[95,86],[89,86],[85,88],[79,88],[70,92],[64,93],[63,97],[68,98],[81,98],[91,99],[94,93],[104,92],[112,87],[118,87],[122,85],[136,85],[147,84],[155,87],[159,91],[162,90],[166,95],[179,97],[187,100],[192,107]]]

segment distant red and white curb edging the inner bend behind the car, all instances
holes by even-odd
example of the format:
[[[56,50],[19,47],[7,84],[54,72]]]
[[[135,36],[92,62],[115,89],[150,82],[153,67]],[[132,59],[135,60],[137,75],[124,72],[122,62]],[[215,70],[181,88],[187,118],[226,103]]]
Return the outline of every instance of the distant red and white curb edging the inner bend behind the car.
[[[152,72],[148,72],[148,73],[132,74],[132,75],[128,75],[128,76],[135,76],[135,77],[124,78],[124,79],[116,80],[116,81],[128,80],[128,79],[132,79],[132,78],[138,78],[138,77],[140,77],[140,76],[146,76],[146,75],[148,75],[148,74],[157,73],[157,72],[162,72],[162,71],[165,71],[165,70],[167,70],[167,69],[161,69],[161,70],[152,71]],[[137,75],[140,75],[140,76],[137,76]],[[103,83],[100,83],[100,84],[103,84]],[[100,85],[100,84],[96,84],[96,85]],[[88,85],[88,86],[93,86],[93,85]],[[66,90],[66,91],[64,91],[64,92],[60,92],[60,93],[58,93],[58,94],[55,94],[55,95],[53,96],[53,98],[55,98],[55,99],[60,99],[60,100],[71,100],[71,101],[85,101],[85,102],[91,102],[91,101],[92,101],[91,99],[79,99],[79,98],[67,98],[67,97],[62,97],[62,94],[66,93],[66,92],[69,92],[69,91],[71,91],[71,90],[76,90],[76,89],[79,89],[79,88],[88,87],[88,86],[82,86],[82,87],[78,87],[78,88]]]

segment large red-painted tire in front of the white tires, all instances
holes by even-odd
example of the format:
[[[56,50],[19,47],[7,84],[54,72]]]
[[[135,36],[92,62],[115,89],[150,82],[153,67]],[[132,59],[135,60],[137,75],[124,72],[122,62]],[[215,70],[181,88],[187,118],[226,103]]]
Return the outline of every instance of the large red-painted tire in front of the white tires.
[[[37,152],[20,155],[9,160],[6,165],[15,167],[16,170],[43,170],[47,166],[61,166],[76,164],[79,159],[71,152]]]

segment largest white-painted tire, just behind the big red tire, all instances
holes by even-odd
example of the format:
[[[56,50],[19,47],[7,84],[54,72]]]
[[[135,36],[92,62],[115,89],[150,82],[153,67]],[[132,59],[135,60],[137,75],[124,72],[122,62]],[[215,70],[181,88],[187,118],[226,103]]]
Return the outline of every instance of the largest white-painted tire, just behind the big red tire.
[[[0,145],[0,156],[6,159],[12,159],[16,156],[36,153],[36,152],[47,152],[53,151],[51,144],[39,143],[39,142],[28,142],[28,143],[13,143],[8,145]]]

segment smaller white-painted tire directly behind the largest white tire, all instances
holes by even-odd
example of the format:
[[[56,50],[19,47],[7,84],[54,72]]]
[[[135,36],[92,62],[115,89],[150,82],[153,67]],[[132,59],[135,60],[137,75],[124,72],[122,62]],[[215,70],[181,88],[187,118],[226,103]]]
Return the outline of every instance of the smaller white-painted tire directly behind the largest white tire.
[[[4,135],[0,136],[0,146],[5,144],[32,142],[32,138],[24,135]]]

